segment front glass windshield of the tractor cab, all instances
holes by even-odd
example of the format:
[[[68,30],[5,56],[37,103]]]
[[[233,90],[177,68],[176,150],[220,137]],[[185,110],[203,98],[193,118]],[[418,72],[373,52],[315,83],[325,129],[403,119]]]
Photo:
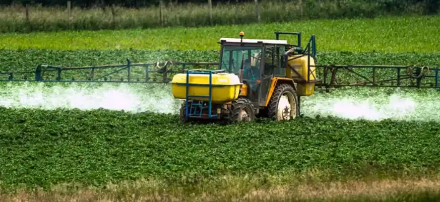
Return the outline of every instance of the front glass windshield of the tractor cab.
[[[260,74],[261,50],[261,47],[255,46],[224,46],[221,69],[238,75],[243,61],[243,79],[257,80]]]

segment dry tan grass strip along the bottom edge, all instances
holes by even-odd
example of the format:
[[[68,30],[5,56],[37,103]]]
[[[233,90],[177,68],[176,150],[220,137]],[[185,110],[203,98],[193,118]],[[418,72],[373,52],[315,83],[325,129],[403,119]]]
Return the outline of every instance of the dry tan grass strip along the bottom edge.
[[[208,187],[164,187],[162,183],[139,180],[132,183],[109,184],[104,189],[93,187],[70,192],[65,185],[50,191],[21,190],[3,194],[0,202],[113,202],[113,201],[300,201],[300,200],[396,200],[402,195],[417,196],[421,193],[440,194],[439,178],[384,179],[371,181],[345,181],[331,183],[300,183],[273,186],[243,186],[225,178],[226,184]]]

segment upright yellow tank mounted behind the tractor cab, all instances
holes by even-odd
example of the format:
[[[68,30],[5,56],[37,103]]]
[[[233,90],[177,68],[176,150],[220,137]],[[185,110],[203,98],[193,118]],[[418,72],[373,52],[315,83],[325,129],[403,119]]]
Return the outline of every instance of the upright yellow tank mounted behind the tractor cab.
[[[316,77],[316,71],[315,67],[310,67],[310,70],[308,69],[308,59],[310,60],[310,66],[314,66],[314,59],[312,56],[306,56],[303,55],[302,57],[299,57],[301,55],[292,55],[289,57],[289,65],[290,67],[293,67],[299,75],[297,75],[294,71],[291,69],[286,68],[286,75],[291,76],[292,79],[296,80],[297,82],[297,94],[299,96],[308,96],[312,95],[314,93],[314,84],[317,81]],[[294,60],[290,60],[292,58],[296,58]],[[308,75],[310,74],[310,77]]]

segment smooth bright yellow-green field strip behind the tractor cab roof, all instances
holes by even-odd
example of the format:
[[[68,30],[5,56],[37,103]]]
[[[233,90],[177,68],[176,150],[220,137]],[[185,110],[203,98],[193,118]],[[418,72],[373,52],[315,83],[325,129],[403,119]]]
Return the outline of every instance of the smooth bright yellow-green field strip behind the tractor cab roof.
[[[291,13],[291,12],[289,12]],[[318,51],[439,52],[439,16],[314,20],[227,25],[203,28],[158,28],[119,31],[42,32],[0,35],[0,49],[57,50],[219,50],[222,37],[274,39],[274,31],[301,32],[303,46],[315,35]],[[1,27],[1,26],[0,26]],[[296,38],[282,36],[296,44]]]

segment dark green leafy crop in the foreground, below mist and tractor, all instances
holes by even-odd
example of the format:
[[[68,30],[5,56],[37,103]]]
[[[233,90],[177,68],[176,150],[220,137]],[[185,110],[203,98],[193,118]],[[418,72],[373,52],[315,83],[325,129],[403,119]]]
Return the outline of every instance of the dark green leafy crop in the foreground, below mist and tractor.
[[[181,125],[175,115],[0,107],[2,187],[139,177],[197,183],[222,174],[345,179],[439,169],[439,125],[299,118]],[[72,166],[75,165],[75,166]],[[343,176],[347,174],[348,176]]]

